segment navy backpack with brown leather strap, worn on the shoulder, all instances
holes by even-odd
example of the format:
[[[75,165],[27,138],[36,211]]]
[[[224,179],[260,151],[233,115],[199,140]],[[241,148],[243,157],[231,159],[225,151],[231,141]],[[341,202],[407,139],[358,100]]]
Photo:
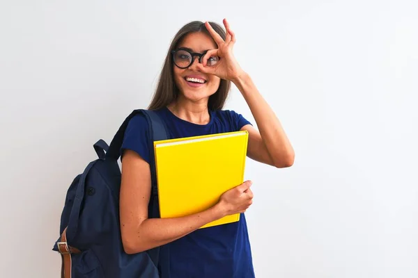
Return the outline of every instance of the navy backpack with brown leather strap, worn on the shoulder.
[[[109,146],[102,139],[93,145],[98,159],[88,163],[68,188],[61,213],[60,236],[52,248],[61,254],[61,277],[158,278],[164,272],[159,263],[162,247],[126,254],[121,240],[118,158],[127,124],[139,113],[148,121],[150,145],[154,140],[169,138],[167,127],[155,112],[138,109],[125,119]],[[153,192],[148,216],[159,218],[153,146],[149,149]]]

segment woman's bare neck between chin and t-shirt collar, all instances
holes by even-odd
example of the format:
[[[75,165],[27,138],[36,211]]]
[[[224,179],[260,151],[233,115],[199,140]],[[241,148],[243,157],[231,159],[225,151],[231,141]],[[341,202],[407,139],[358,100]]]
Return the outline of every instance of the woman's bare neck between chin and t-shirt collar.
[[[193,103],[191,101],[183,101],[177,99],[167,106],[171,113],[182,120],[192,122],[193,124],[208,124],[210,122],[210,114],[208,111],[208,103]]]

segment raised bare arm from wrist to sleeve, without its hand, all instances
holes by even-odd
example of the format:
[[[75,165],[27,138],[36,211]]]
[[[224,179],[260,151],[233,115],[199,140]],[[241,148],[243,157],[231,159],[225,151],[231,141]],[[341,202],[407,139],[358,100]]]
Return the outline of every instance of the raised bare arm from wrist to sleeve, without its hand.
[[[243,73],[233,79],[233,83],[247,101],[260,130],[257,131],[249,124],[242,127],[249,132],[248,156],[275,167],[290,167],[293,165],[295,152],[291,142],[289,142],[274,111],[258,92],[251,77]]]

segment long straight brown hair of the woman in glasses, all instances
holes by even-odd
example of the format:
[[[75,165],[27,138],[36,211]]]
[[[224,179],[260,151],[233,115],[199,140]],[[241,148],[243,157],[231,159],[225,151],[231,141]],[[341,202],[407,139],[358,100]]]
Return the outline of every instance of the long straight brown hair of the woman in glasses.
[[[209,22],[209,24],[225,40],[226,33],[224,29],[215,22]],[[180,28],[180,30],[174,36],[169,47],[169,51],[167,52],[164,65],[162,67],[157,90],[155,90],[153,99],[148,106],[149,110],[164,108],[165,106],[171,104],[171,102],[178,97],[178,88],[173,78],[173,60],[171,59],[171,51],[176,49],[178,44],[181,42],[181,40],[183,40],[183,38],[185,38],[187,34],[196,32],[203,32],[210,35],[203,22],[194,21],[189,22]],[[218,90],[215,92],[215,94],[209,97],[209,110],[219,110],[224,107],[230,88],[231,81],[221,79]]]

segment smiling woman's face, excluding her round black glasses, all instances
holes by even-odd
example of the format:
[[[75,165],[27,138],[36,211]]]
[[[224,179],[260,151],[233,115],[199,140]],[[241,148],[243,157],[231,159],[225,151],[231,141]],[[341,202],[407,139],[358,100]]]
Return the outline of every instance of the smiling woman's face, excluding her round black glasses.
[[[208,49],[216,49],[217,44],[206,33],[189,33],[178,44],[180,47],[189,49],[190,52],[202,54]],[[204,74],[199,71],[196,65],[199,57],[193,57],[193,63],[185,69],[173,65],[174,80],[181,97],[193,102],[207,101],[219,88],[221,79],[215,75]]]

